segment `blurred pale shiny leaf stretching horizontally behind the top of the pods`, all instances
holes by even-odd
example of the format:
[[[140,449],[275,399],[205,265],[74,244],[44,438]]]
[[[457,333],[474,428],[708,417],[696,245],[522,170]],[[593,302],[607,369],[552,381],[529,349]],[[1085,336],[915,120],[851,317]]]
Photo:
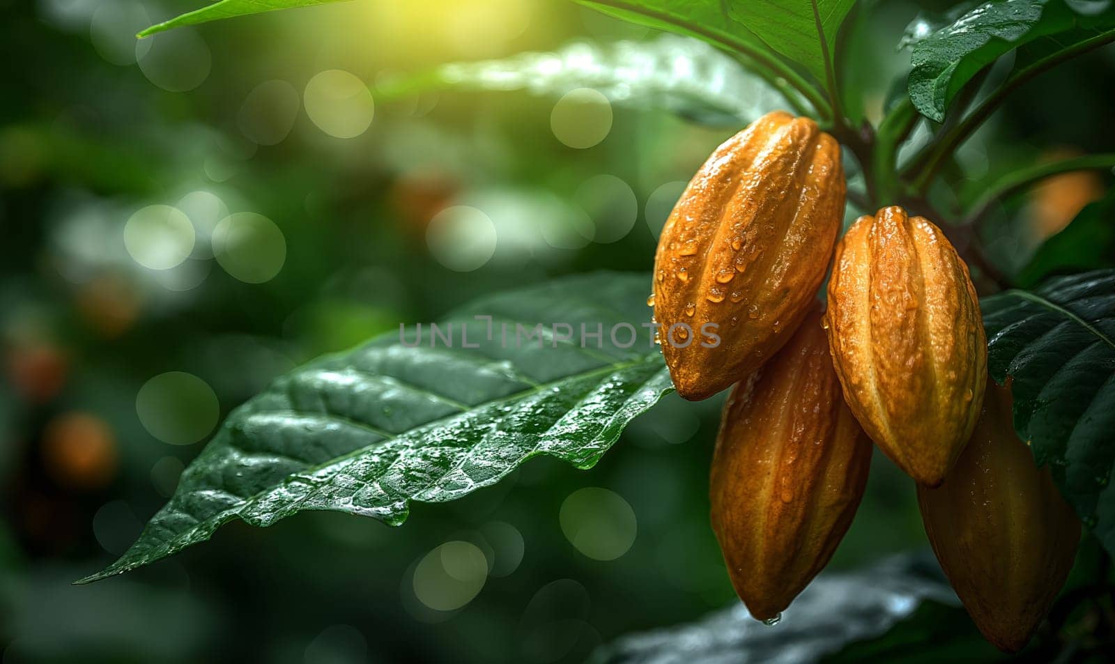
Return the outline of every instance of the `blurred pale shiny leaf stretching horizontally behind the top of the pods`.
[[[746,125],[786,99],[724,51],[698,39],[662,35],[609,46],[574,42],[558,52],[444,65],[379,87],[386,98],[430,89],[527,90],[563,95],[593,88],[613,104],[662,108],[694,121]]]

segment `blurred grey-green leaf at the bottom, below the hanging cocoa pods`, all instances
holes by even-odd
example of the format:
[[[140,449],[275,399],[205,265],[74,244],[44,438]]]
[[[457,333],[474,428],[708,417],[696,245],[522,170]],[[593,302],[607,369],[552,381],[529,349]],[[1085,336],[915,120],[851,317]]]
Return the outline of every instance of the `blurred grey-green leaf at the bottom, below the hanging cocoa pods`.
[[[850,643],[884,634],[928,604],[946,608],[959,602],[932,557],[898,556],[853,573],[822,573],[776,626],[752,618],[736,603],[696,623],[620,638],[589,661],[816,662]],[[970,622],[967,625],[970,628]]]

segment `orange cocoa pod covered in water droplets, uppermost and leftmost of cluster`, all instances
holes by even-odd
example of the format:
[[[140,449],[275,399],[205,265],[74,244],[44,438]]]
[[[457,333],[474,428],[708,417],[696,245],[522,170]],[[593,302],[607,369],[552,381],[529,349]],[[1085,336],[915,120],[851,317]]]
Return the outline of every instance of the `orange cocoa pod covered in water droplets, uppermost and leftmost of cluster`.
[[[681,397],[711,397],[785,343],[824,280],[843,213],[840,145],[808,118],[769,113],[712,153],[655,255],[655,318]]]

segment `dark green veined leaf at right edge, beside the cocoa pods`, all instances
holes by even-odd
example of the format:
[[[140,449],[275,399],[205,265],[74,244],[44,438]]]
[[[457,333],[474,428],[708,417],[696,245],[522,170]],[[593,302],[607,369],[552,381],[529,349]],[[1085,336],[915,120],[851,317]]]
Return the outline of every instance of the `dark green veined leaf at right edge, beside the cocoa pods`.
[[[988,370],[1011,377],[1015,429],[1115,553],[1115,270],[981,300]]]

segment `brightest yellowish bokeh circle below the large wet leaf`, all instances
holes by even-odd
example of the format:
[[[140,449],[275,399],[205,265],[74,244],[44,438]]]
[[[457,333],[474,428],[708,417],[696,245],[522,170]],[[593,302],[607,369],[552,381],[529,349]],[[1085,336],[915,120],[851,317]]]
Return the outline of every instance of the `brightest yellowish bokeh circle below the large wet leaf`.
[[[475,544],[447,541],[415,567],[415,596],[434,611],[456,611],[479,594],[487,570],[487,558]]]

